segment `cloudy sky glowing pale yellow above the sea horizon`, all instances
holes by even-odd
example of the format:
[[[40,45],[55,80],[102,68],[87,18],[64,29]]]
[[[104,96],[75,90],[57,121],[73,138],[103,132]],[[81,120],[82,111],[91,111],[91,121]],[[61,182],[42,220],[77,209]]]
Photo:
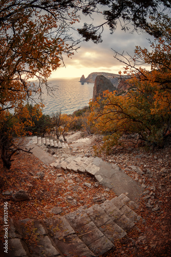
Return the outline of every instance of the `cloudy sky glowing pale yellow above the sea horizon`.
[[[81,27],[85,22],[83,17],[80,24],[75,26]],[[87,22],[87,21],[86,21]],[[96,15],[93,20],[93,24],[101,24],[103,22],[100,15]],[[87,22],[88,23],[88,22]],[[61,64],[60,68],[52,72],[51,78],[73,78],[81,77],[82,75],[88,77],[91,72],[110,72],[118,74],[121,70],[123,71],[124,64],[117,61],[113,56],[116,50],[119,53],[128,52],[130,55],[134,54],[136,46],[149,47],[149,35],[145,33],[131,33],[132,28],[129,31],[121,30],[120,24],[117,30],[110,34],[107,27],[104,27],[102,33],[102,43],[94,44],[92,41],[82,42],[79,44],[80,48],[77,52],[74,52],[72,58],[63,56],[65,67]],[[80,35],[74,32],[74,38],[79,38]]]

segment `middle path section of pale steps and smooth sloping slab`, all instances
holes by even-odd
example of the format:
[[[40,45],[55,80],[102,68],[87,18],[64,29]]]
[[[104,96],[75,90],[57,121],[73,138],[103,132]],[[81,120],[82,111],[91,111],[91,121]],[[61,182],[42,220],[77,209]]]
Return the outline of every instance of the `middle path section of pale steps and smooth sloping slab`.
[[[73,172],[88,173],[103,186],[111,188],[117,195],[127,193],[132,200],[139,198],[142,187],[124,173],[119,166],[103,161],[99,157],[81,157],[65,155],[50,164],[51,167]]]

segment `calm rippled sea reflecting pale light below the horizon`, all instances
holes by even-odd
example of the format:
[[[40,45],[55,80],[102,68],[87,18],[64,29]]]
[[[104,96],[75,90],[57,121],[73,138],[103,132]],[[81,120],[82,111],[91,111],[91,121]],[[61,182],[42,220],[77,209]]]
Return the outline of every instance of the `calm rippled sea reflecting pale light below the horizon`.
[[[49,79],[50,87],[55,87],[52,94],[47,94],[43,88],[43,114],[51,115],[61,111],[62,114],[72,114],[89,104],[92,99],[94,83],[79,82],[80,78]]]

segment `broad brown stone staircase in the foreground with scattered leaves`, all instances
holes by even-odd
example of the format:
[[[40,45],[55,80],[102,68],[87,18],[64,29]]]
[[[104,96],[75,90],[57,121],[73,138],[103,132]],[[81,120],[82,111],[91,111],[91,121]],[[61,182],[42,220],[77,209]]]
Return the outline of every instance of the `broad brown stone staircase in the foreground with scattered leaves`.
[[[112,249],[115,242],[144,222],[132,209],[137,205],[121,194],[103,204],[82,207],[65,216],[44,220],[10,220],[9,247],[12,256],[100,256]]]

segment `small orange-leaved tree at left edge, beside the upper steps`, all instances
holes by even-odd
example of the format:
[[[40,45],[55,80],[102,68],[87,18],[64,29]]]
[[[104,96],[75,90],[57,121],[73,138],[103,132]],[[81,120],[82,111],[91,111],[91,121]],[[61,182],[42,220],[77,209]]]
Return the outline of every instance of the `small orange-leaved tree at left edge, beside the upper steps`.
[[[32,115],[38,119],[41,109],[38,105],[32,107]],[[28,106],[23,106],[20,112],[11,114],[8,110],[0,112],[0,149],[4,167],[10,169],[12,156],[18,150],[31,153],[31,149],[25,150],[22,147],[21,136],[26,135],[27,128],[33,126],[32,117]]]

